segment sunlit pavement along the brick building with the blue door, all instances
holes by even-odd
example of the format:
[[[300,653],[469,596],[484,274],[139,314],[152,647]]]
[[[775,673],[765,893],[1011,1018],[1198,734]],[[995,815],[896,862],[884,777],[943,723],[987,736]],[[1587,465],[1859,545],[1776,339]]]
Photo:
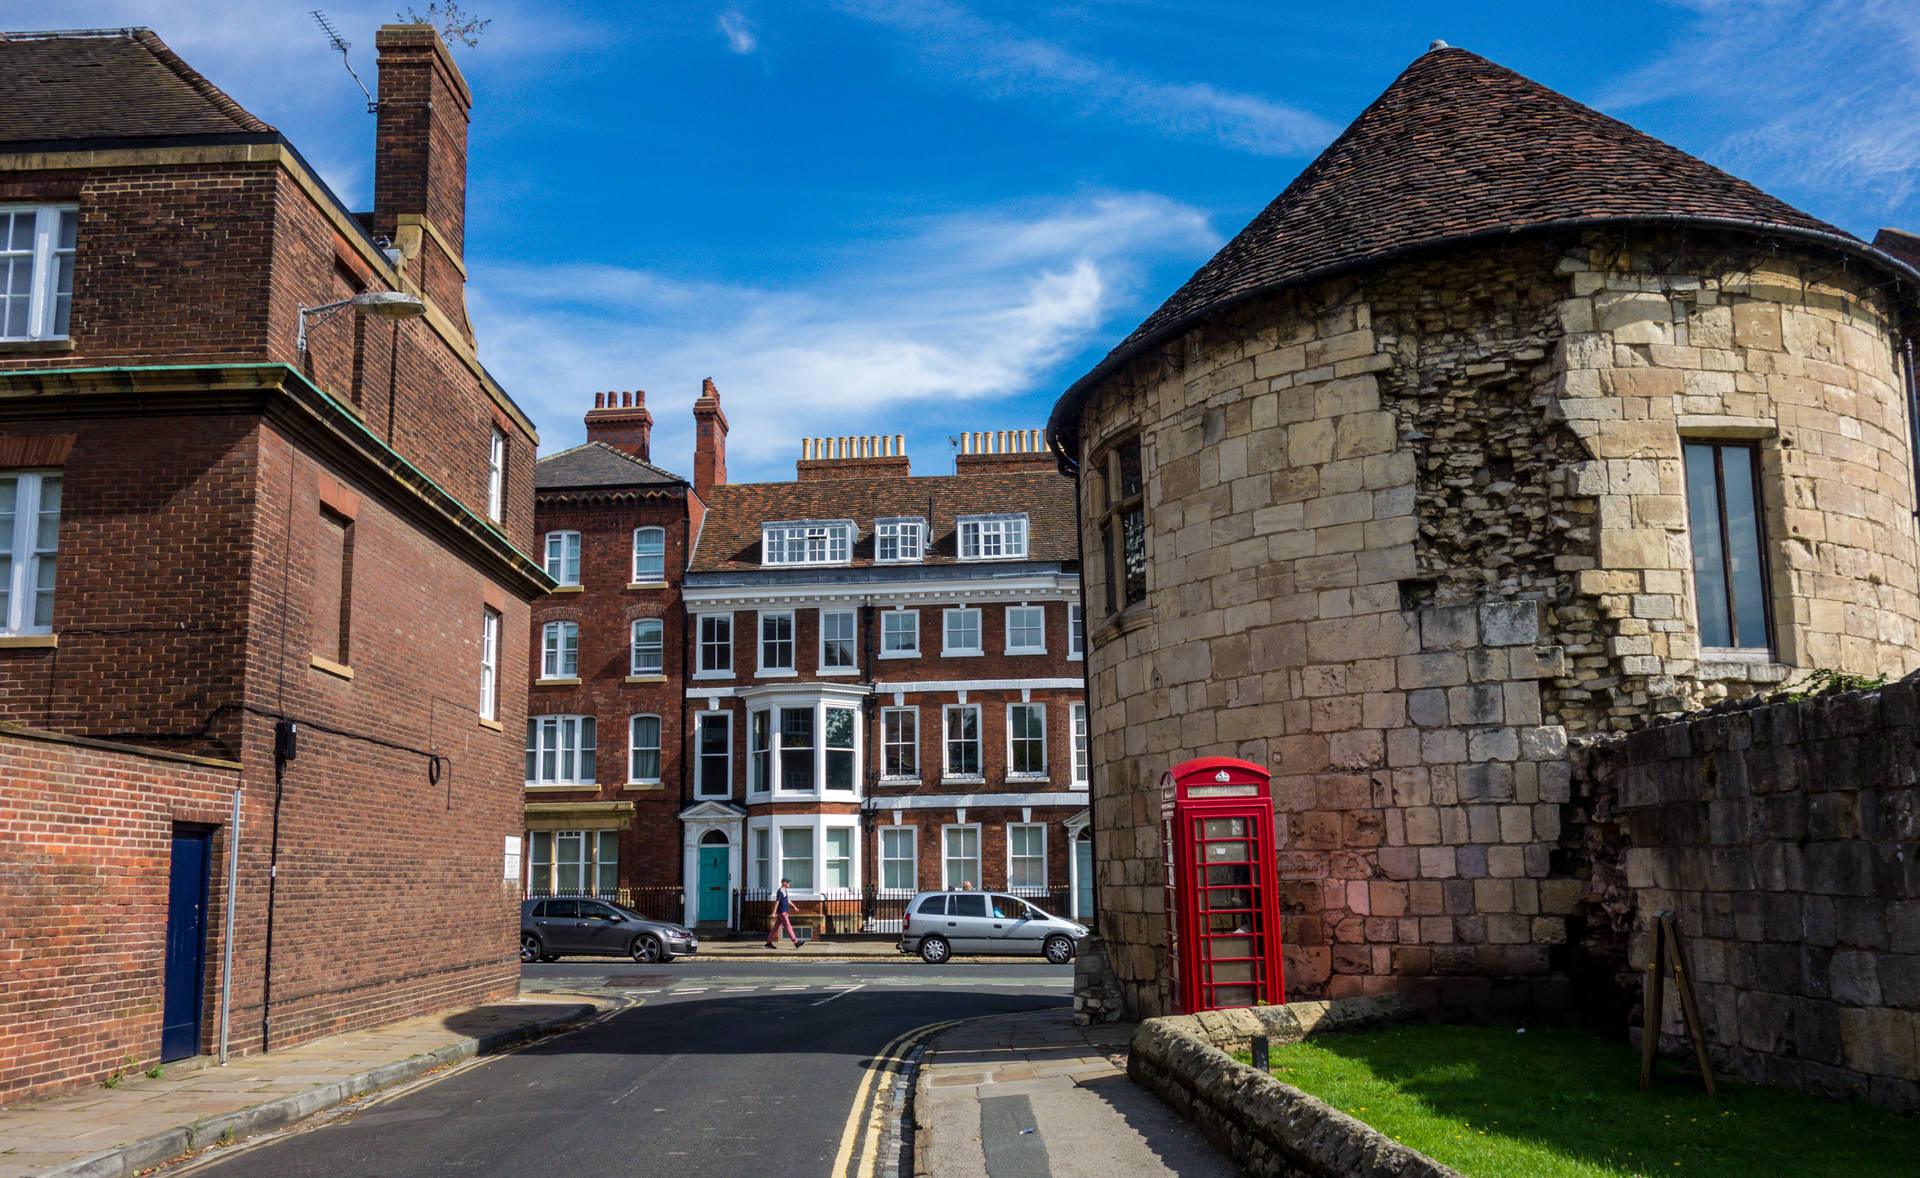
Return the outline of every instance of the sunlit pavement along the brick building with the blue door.
[[[0,1178],[121,1178],[284,1128],[374,1090],[497,1051],[616,1000],[551,994],[405,1019],[271,1051],[169,1063],[44,1101],[0,1107]]]

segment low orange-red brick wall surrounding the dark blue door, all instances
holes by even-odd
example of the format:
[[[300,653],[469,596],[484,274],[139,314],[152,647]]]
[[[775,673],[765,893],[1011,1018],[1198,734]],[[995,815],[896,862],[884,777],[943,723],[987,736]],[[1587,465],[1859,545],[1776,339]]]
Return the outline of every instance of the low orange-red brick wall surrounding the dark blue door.
[[[173,823],[225,827],[234,769],[0,733],[0,1101],[159,1061]],[[252,798],[257,836],[269,808]],[[213,840],[219,1032],[227,836]]]

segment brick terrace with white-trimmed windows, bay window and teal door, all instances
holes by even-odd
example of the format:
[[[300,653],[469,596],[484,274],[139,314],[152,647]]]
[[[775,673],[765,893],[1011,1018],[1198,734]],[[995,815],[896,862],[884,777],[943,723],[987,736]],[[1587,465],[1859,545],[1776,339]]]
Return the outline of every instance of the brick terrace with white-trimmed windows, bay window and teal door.
[[[803,443],[795,482],[726,483],[701,420],[685,574],[687,919],[793,879],[799,913],[1012,888],[1091,907],[1073,487],[1037,432],[970,436],[916,478],[897,437]]]

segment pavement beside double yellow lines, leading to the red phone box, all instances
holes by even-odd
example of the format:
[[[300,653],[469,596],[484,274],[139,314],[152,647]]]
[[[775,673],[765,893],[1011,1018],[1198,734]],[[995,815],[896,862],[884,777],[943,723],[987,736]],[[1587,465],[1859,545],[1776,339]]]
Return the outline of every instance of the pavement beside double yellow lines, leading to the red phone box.
[[[1131,1023],[1075,1026],[1064,1007],[941,1032],[914,1092],[914,1176],[1240,1174],[1127,1078],[1131,1038]]]

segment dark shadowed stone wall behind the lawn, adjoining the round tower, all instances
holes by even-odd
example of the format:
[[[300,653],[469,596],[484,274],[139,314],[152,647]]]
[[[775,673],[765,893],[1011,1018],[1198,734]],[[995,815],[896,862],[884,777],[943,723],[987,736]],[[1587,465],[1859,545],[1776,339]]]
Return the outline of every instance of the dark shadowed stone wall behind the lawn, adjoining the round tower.
[[[1920,1111],[1916,741],[1920,677],[1582,742],[1588,906],[1626,934],[1594,948],[1626,1000],[1670,909],[1716,1067]],[[1661,1028],[1686,1049],[1672,986]]]

